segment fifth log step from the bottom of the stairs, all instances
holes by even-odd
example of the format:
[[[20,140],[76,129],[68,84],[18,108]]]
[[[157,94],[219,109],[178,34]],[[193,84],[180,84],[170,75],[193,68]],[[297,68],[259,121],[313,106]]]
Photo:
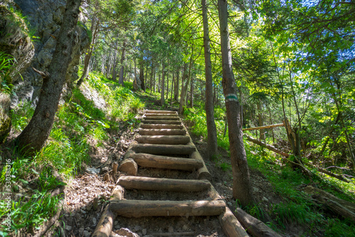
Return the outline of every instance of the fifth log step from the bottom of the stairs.
[[[190,142],[190,136],[140,136],[135,140],[138,143],[185,145]]]

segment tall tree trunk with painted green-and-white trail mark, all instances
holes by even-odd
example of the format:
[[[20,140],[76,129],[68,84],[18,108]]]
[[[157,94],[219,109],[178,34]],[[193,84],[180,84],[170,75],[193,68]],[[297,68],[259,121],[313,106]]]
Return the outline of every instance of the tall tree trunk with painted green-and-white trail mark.
[[[253,203],[250,174],[241,131],[240,104],[236,96],[236,82],[231,65],[231,47],[229,45],[228,11],[226,0],[219,0],[219,25],[221,32],[222,85],[226,97],[226,117],[228,120],[229,146],[233,173],[233,197],[242,206]]]

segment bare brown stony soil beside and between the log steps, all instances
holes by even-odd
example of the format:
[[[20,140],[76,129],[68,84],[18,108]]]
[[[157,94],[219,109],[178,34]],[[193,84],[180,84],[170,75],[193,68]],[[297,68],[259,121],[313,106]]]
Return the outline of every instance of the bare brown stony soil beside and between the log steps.
[[[159,101],[154,97],[141,95],[141,100],[146,102],[146,109],[161,109]],[[100,106],[100,103],[96,104]],[[104,104],[101,104],[101,106],[104,106]],[[217,189],[221,197],[226,200],[229,209],[234,211],[236,209],[236,201],[232,197],[232,174],[228,151],[219,148],[218,158],[216,160],[207,160],[207,143],[201,136],[195,136],[190,131],[193,124],[185,122],[185,126],[212,175],[212,185]],[[60,236],[91,236],[104,207],[108,203],[111,190],[114,189],[119,174],[114,177],[110,176],[109,180],[104,180],[104,176],[112,169],[113,162],[120,161],[124,157],[124,153],[137,133],[137,127],[138,124],[134,127],[131,124],[123,124],[119,131],[110,131],[109,141],[103,143],[102,146],[97,146],[97,141],[95,140],[91,141],[91,160],[83,165],[81,172],[78,172],[72,180],[66,180],[67,186],[65,187],[65,199],[60,221],[45,236],[58,236],[58,228],[61,232]],[[116,140],[119,142],[116,143]],[[258,207],[251,207],[253,210],[249,209],[249,213],[259,214],[258,218],[261,221],[273,227],[283,236],[324,236],[324,231],[321,228],[316,226],[310,231],[310,226],[307,223],[299,224],[297,221],[280,228],[274,219],[275,216],[268,216],[268,213],[273,213],[273,206],[286,203],[288,199],[276,192],[274,185],[260,171],[251,167],[250,172],[253,195]],[[181,178],[182,175],[185,179],[193,178],[191,174],[189,177],[189,174],[188,172],[184,174],[171,170],[162,172],[153,169],[141,169],[140,175],[170,178]],[[139,192],[138,194],[135,190],[126,190],[124,195],[124,198],[127,199],[163,200],[167,198],[168,194],[165,192]],[[193,200],[206,197],[204,193],[197,194],[197,196],[194,195],[190,193],[170,194],[169,199]],[[115,233],[112,236],[151,237],[154,236],[152,233],[170,233],[174,231],[187,231],[194,233],[192,236],[201,237],[225,236],[218,219],[214,217],[148,217],[137,219],[118,217],[114,223],[113,231]]]

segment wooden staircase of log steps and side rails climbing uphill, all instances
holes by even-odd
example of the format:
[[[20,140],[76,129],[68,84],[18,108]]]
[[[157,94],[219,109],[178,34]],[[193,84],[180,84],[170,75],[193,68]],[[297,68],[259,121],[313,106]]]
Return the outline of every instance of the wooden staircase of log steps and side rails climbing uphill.
[[[108,237],[117,215],[128,218],[219,216],[227,236],[248,236],[209,182],[211,175],[176,111],[146,110],[138,133],[119,166],[121,175],[116,188],[92,236]],[[146,168],[190,172],[195,178],[141,176],[139,170]],[[137,200],[124,199],[125,189],[137,192],[206,192],[209,195],[202,200]]]

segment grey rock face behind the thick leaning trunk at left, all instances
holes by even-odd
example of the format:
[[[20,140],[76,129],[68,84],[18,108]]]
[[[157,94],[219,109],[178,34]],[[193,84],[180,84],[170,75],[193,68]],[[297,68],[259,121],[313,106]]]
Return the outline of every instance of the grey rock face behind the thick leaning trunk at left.
[[[65,12],[66,2],[64,0],[14,0],[14,2],[31,25],[35,36],[35,56],[31,67],[22,74],[23,81],[18,80],[14,83],[16,95],[12,97],[12,104],[17,104],[18,101],[23,99],[31,100],[35,103],[42,86],[42,77],[34,72],[32,67],[42,72],[48,70],[57,44],[57,36],[62,23],[62,16]],[[72,60],[66,76],[67,84],[71,84],[78,78],[77,65],[79,64],[80,55],[89,46],[89,36],[84,24],[78,23],[75,35]]]

